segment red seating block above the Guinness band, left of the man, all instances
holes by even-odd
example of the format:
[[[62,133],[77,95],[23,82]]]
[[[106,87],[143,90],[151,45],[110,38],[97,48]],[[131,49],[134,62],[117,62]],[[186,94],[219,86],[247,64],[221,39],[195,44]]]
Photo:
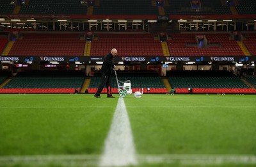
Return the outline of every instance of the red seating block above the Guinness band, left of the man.
[[[24,34],[13,44],[9,56],[83,56],[78,34]]]

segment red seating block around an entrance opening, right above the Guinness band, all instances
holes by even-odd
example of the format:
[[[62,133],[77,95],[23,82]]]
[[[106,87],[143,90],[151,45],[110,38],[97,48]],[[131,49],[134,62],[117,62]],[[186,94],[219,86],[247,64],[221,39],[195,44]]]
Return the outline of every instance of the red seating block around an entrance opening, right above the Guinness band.
[[[230,40],[228,34],[204,35],[207,38],[208,46],[198,48],[195,34],[170,34],[172,40],[168,40],[168,47],[171,56],[244,56],[244,52],[237,42]],[[194,44],[195,46],[186,44]]]

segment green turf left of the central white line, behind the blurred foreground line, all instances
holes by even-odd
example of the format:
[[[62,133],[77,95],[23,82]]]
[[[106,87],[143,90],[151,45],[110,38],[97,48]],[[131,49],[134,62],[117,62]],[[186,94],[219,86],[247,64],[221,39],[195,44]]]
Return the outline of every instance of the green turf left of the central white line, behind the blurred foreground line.
[[[113,100],[95,107],[92,95],[0,99],[0,155],[100,154],[116,106]]]

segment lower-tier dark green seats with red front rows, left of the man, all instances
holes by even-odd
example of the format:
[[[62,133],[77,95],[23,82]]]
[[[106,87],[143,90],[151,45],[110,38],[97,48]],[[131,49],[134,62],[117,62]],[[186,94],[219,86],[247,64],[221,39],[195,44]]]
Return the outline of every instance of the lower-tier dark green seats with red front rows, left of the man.
[[[29,71],[17,76],[0,93],[74,93],[81,89],[84,74],[80,71]]]

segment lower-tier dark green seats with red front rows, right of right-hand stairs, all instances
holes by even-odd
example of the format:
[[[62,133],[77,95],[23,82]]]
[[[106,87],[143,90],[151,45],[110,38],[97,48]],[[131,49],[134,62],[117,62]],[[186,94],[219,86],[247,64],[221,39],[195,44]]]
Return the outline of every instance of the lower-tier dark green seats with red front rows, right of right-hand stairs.
[[[170,71],[168,80],[176,93],[188,93],[188,88],[192,88],[193,93],[256,93],[227,71]]]

